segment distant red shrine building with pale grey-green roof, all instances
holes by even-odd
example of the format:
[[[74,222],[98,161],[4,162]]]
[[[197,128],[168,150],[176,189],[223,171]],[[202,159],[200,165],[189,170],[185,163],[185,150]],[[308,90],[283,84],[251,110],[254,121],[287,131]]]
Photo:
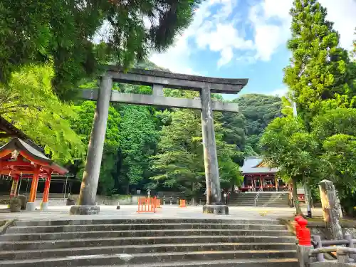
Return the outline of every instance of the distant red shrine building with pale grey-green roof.
[[[281,192],[288,191],[287,185],[276,176],[277,168],[268,167],[260,157],[247,157],[241,167],[244,182],[241,192]]]

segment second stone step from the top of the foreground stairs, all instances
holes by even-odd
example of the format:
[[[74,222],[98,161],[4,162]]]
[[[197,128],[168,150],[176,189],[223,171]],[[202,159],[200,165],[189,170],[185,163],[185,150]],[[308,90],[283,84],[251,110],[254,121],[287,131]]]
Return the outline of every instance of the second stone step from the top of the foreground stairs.
[[[266,224],[84,224],[66,226],[13,226],[7,229],[6,234],[156,229],[251,229],[264,231],[285,230],[286,226]]]

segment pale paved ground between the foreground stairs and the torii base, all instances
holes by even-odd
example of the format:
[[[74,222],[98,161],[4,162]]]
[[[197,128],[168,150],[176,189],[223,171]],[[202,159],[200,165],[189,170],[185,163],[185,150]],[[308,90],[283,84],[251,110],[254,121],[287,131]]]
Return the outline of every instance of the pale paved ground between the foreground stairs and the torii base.
[[[1,206],[4,209],[6,206]],[[37,208],[39,209],[39,207]],[[100,206],[100,214],[97,215],[70,215],[70,206],[49,206],[46,211],[21,211],[20,213],[1,212],[0,220],[58,220],[58,219],[278,219],[293,216],[292,208],[262,208],[262,207],[229,207],[229,215],[203,214],[202,206],[188,206],[179,208],[177,205],[164,205],[156,213],[138,214],[137,206]],[[305,210],[306,213],[306,210]],[[321,209],[313,209],[315,216],[322,214]]]

